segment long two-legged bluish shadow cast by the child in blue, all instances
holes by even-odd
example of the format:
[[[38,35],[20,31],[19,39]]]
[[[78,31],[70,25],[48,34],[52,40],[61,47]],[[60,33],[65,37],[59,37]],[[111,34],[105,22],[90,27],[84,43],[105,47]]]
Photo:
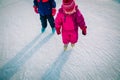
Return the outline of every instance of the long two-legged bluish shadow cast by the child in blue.
[[[17,55],[7,62],[2,68],[0,68],[0,80],[10,80],[10,78],[19,70],[19,68],[47,41],[50,40],[53,34],[47,35],[45,38],[40,40],[34,47],[33,45],[37,42],[41,36],[38,35],[33,41],[25,46]],[[31,49],[30,49],[31,48]]]

